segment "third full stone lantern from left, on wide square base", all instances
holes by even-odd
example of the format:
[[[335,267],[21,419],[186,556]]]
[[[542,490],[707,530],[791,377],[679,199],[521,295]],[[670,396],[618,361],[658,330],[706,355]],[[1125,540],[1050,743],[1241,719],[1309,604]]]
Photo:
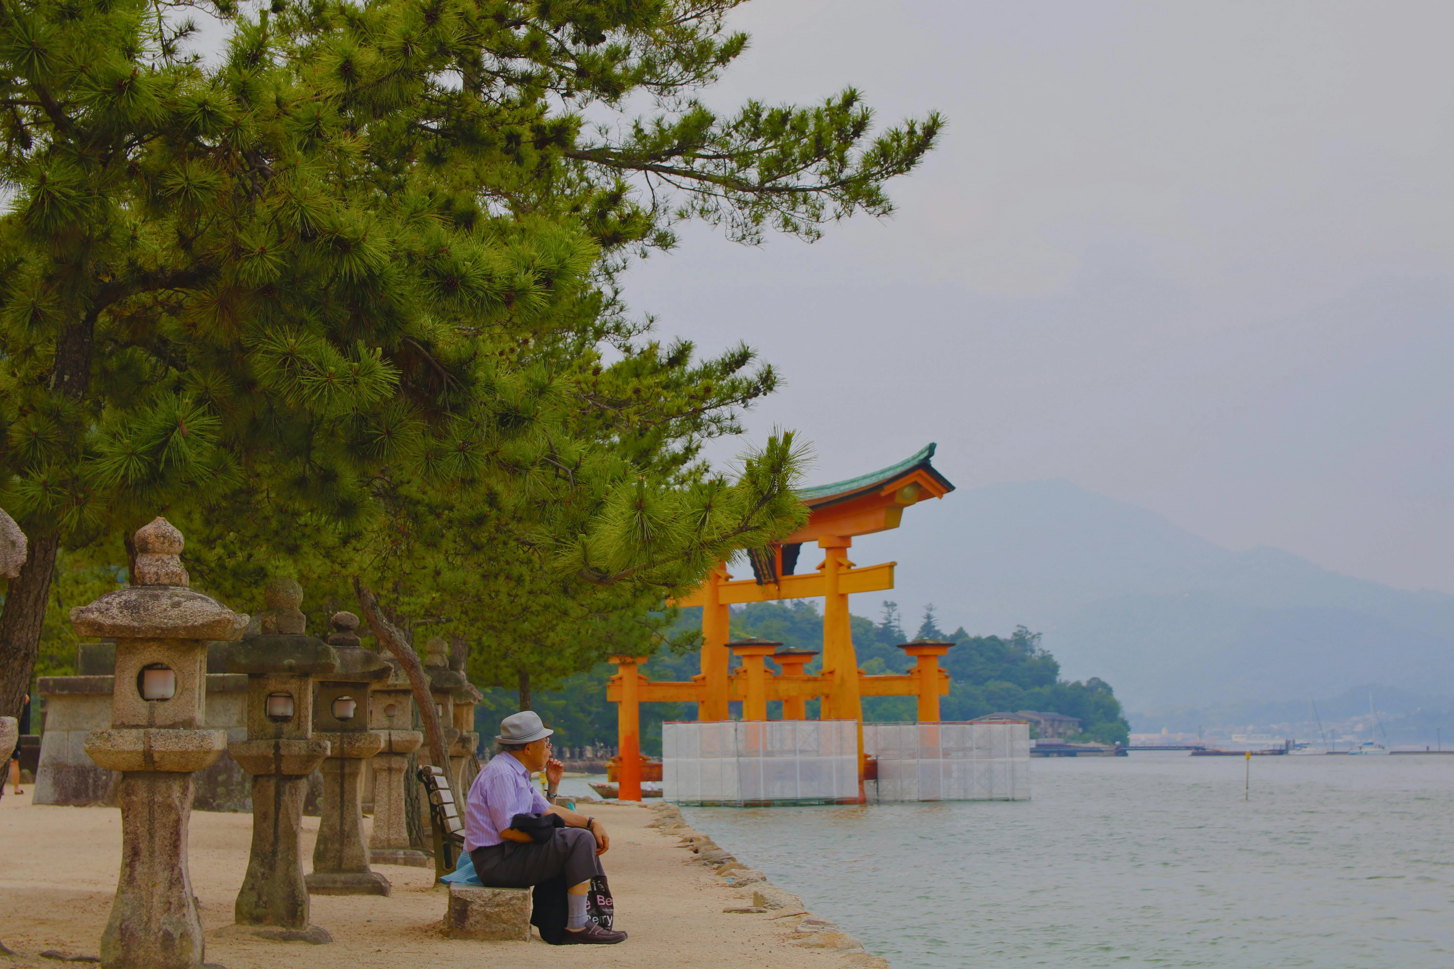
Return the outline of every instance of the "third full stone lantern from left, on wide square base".
[[[314,895],[388,895],[388,879],[369,869],[364,843],[364,761],[384,748],[384,735],[369,729],[369,690],[388,680],[391,667],[365,649],[353,613],[334,613],[329,645],[339,668],[318,678],[313,728],[332,750],[323,761],[318,841],[313,848],[308,891]]]

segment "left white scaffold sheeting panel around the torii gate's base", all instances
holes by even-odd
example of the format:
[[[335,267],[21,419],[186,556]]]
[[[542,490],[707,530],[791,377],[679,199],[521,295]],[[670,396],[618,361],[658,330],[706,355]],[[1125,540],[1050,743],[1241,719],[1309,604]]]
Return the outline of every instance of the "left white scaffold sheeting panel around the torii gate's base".
[[[685,805],[853,803],[858,723],[662,723],[662,796]]]

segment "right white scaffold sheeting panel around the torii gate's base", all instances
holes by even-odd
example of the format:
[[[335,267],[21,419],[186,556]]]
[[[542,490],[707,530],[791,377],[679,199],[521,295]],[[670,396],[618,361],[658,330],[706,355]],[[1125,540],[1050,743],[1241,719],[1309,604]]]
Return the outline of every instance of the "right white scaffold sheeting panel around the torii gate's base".
[[[869,800],[1029,800],[1028,723],[864,723]]]

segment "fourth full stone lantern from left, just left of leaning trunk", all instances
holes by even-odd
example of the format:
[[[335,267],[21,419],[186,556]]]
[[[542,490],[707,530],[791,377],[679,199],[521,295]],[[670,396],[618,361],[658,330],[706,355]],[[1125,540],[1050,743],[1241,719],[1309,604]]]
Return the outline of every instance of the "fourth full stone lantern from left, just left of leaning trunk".
[[[430,867],[423,851],[409,844],[404,784],[409,777],[409,755],[425,742],[414,725],[414,692],[409,674],[391,655],[382,657],[390,665],[388,680],[374,686],[368,705],[369,729],[384,738],[384,747],[371,761],[374,766],[374,832],[369,835],[369,861],[374,864],[413,864]]]

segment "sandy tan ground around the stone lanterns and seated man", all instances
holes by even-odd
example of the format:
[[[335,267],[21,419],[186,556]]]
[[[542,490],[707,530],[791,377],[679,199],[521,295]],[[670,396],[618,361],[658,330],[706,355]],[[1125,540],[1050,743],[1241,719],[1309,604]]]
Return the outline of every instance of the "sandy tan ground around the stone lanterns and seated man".
[[[616,898],[616,927],[631,937],[619,946],[548,946],[531,941],[445,938],[443,889],[432,869],[375,866],[393,882],[390,898],[314,896],[313,923],[333,943],[265,943],[215,938],[233,923],[233,901],[243,882],[252,815],[193,812],[192,886],[206,925],[206,960],[228,969],[278,969],[302,960],[310,969],[499,965],[534,968],[702,966],[711,969],[887,966],[864,953],[836,927],[814,924],[798,905],[755,912],[765,883],[731,885],[682,847],[682,827],[672,812],[634,805],[593,805],[611,831],[606,873]],[[667,827],[648,827],[651,824]],[[311,857],[318,819],[304,818],[304,856]],[[0,941],[15,954],[0,965],[58,966],[54,956],[96,956],[111,912],[121,864],[121,815],[112,808],[55,808],[31,803],[31,787],[0,800]],[[742,872],[736,873],[739,877]],[[750,875],[747,877],[752,877]],[[776,892],[781,899],[784,895]],[[792,896],[785,896],[792,899]],[[845,950],[846,947],[846,950]]]

